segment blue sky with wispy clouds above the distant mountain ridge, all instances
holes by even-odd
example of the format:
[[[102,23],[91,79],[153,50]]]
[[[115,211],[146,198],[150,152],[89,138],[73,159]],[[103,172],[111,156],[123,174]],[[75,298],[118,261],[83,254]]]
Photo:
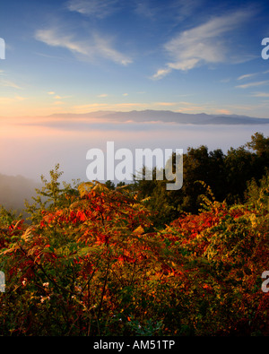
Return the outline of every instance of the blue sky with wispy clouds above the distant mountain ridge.
[[[268,2],[8,1],[0,116],[170,109],[268,117]]]

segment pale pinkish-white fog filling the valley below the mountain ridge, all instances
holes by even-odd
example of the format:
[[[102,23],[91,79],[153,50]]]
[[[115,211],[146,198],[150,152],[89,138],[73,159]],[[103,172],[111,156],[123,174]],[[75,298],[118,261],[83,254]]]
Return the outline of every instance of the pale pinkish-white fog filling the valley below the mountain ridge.
[[[221,149],[226,153],[249,142],[256,132],[269,136],[268,124],[197,125],[163,120],[143,116],[137,122],[126,115],[110,121],[98,115],[2,120],[0,204],[22,209],[24,199],[30,199],[40,186],[40,176],[48,177],[57,163],[64,171],[62,180],[86,181],[87,151],[98,148],[106,155],[107,142],[115,142],[115,151],[161,148],[187,152],[188,147],[205,145],[209,151]]]

